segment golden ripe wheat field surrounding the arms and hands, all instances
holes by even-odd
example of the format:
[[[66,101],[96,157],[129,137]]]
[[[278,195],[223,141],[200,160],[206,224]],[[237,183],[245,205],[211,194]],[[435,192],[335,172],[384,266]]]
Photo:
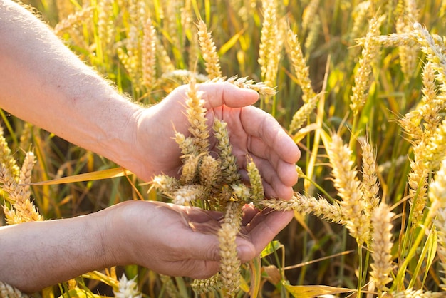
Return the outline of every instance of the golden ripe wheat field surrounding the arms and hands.
[[[205,200],[217,197],[214,209],[227,212],[225,219],[237,218],[239,205],[229,197],[242,194],[259,208],[295,211],[249,264],[230,254],[237,220],[224,222],[220,243],[231,256],[220,273],[235,278],[194,281],[113,267],[44,289],[41,297],[446,297],[446,1],[24,4],[134,101],[150,105],[182,84],[193,90],[195,83],[229,81],[258,91],[256,105],[302,152],[289,202],[264,200],[254,164],[247,189],[237,168],[199,178],[206,190],[214,185]],[[188,107],[200,125],[193,137],[205,143],[212,130],[219,149],[229,148],[224,123],[207,128],[194,96]],[[192,184],[185,169],[233,164],[230,150],[213,160],[206,145],[188,148],[172,130],[192,156],[183,160],[180,180],[96,180],[88,173],[116,165],[3,111],[1,119],[1,225],[83,215],[124,200],[205,207],[195,193],[184,194]],[[219,179],[236,185],[229,197],[215,187]],[[24,186],[47,180],[60,183]],[[0,281],[2,295],[13,291]]]

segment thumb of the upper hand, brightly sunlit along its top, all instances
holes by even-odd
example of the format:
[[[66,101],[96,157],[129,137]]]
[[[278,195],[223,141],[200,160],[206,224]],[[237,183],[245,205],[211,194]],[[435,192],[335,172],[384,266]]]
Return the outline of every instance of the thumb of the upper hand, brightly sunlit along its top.
[[[203,91],[202,98],[206,101],[205,108],[217,108],[229,106],[242,108],[255,103],[259,99],[259,93],[250,89],[239,88],[232,83],[202,83],[199,91]]]

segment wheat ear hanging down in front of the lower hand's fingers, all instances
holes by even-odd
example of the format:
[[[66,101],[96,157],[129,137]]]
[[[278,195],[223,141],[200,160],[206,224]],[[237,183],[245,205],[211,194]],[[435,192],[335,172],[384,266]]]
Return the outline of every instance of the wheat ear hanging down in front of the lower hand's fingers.
[[[222,227],[218,231],[220,247],[220,276],[223,289],[234,295],[240,284],[240,260],[235,242],[242,223],[242,208],[239,202],[229,202]]]

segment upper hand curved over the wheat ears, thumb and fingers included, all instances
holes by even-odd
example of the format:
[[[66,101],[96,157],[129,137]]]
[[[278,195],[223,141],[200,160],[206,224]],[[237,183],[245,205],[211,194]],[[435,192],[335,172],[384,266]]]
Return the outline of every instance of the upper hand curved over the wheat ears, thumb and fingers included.
[[[181,152],[172,137],[174,129],[188,134],[187,88],[176,88],[161,103],[139,112],[134,144],[135,156],[145,160],[145,163],[135,163],[135,168],[140,169],[136,173],[140,178],[150,180],[160,173],[172,176],[180,173]],[[244,168],[249,154],[264,178],[266,196],[291,198],[292,186],[297,181],[295,163],[300,157],[299,148],[269,113],[249,106],[257,101],[258,94],[231,83],[203,83],[199,90],[204,92],[208,127],[212,127],[214,118],[227,122],[242,177],[247,178]],[[217,152],[214,145],[211,139],[209,150]]]

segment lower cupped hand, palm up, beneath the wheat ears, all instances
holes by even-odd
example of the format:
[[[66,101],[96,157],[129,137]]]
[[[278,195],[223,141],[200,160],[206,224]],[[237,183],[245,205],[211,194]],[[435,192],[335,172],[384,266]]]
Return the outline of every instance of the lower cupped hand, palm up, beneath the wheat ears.
[[[205,279],[219,271],[221,212],[164,202],[127,201],[105,210],[109,264],[139,264],[160,274]],[[245,205],[237,252],[242,262],[261,250],[293,217]]]

